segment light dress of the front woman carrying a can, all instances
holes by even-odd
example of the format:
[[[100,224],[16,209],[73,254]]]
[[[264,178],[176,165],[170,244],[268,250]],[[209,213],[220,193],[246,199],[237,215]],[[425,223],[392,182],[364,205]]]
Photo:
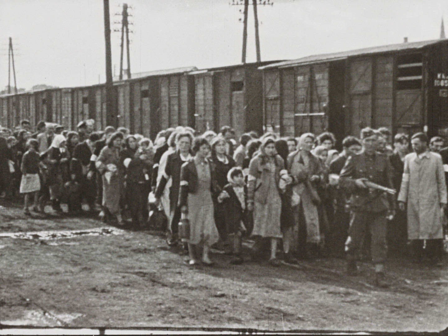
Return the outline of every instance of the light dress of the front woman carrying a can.
[[[213,201],[211,199],[211,173],[209,164],[194,161],[198,172],[196,193],[188,194],[188,218],[190,220],[190,240],[193,245],[211,246],[219,239],[215,225]]]

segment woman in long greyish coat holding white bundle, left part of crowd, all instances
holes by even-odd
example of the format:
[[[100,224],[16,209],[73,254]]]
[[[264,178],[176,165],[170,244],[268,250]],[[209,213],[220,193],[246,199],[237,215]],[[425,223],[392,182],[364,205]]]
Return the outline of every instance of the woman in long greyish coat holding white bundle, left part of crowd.
[[[124,224],[120,213],[120,196],[124,179],[124,167],[120,157],[122,141],[121,132],[112,134],[95,162],[103,180],[103,221],[107,221],[109,214],[112,214],[116,216],[119,225]]]

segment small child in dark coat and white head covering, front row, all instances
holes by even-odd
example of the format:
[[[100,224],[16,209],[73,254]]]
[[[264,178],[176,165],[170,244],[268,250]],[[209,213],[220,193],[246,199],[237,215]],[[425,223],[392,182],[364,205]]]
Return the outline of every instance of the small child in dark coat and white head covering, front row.
[[[223,204],[226,231],[233,239],[234,265],[243,262],[241,258],[241,236],[246,231],[243,220],[246,215],[247,186],[241,168],[233,167],[227,174],[228,184],[218,196],[218,202]]]

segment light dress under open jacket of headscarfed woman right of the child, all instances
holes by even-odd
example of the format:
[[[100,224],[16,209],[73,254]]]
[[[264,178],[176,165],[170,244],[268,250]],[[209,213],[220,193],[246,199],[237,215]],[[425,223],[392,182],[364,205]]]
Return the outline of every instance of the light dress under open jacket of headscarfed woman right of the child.
[[[254,229],[252,235],[281,238],[283,237],[280,230],[281,198],[275,177],[276,165],[274,162],[269,162],[266,166],[270,172],[266,204],[254,202]]]

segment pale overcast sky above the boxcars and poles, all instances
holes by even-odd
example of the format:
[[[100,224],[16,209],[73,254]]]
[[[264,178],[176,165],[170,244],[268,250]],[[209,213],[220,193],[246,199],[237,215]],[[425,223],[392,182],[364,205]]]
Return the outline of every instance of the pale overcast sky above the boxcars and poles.
[[[131,71],[241,63],[243,6],[231,0],[128,0]],[[262,60],[289,60],[438,39],[446,0],[273,0],[258,6]],[[111,23],[123,1],[110,0]],[[241,22],[239,19],[241,18]],[[13,39],[17,86],[87,86],[105,81],[102,0],[0,0],[0,88],[8,84]],[[112,23],[113,28],[120,25]],[[447,31],[448,33],[448,31]],[[120,69],[112,32],[112,68]],[[448,36],[448,35],[447,35]],[[256,60],[249,8],[247,62]],[[126,60],[124,61],[126,67]],[[11,84],[13,77],[11,74]]]

